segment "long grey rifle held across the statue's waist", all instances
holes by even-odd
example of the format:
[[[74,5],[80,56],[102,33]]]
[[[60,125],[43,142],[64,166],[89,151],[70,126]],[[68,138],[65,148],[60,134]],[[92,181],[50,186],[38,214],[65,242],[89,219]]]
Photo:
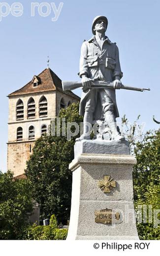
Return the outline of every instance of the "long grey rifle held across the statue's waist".
[[[113,82],[104,82],[104,81],[97,81],[97,80],[92,80],[92,86],[90,88],[98,88],[98,89],[114,89],[114,83]],[[62,81],[62,87],[64,91],[71,91],[80,87],[83,87],[82,82],[77,82],[77,81]],[[136,87],[130,87],[126,85],[121,85],[120,89],[125,89],[125,90],[132,90],[132,91],[150,91],[150,88],[145,89],[145,88],[136,88]]]

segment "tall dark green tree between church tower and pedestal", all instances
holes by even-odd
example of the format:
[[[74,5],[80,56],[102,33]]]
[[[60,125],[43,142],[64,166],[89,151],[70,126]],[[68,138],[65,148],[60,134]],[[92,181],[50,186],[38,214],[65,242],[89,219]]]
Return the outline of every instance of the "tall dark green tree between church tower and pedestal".
[[[79,126],[83,122],[78,110],[79,104],[73,103],[60,111],[59,118],[65,118],[65,131],[67,122],[76,122]],[[56,120],[55,126],[57,130]],[[70,129],[75,131],[74,126]],[[45,134],[36,140],[33,154],[27,162],[26,175],[33,184],[33,198],[40,204],[40,219],[55,214],[58,222],[65,224],[70,216],[72,187],[72,173],[68,165],[74,159],[74,143],[78,135],[70,140],[67,140],[67,134],[62,136],[62,122],[60,134]]]

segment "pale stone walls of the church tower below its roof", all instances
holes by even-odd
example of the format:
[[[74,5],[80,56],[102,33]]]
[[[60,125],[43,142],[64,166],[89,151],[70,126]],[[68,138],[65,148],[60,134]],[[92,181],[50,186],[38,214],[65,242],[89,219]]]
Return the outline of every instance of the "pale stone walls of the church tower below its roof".
[[[47,99],[48,113],[47,117],[39,118],[39,100],[42,96],[45,96]],[[27,119],[27,104],[31,97],[35,101],[35,118]],[[65,107],[68,106],[68,102],[78,102],[76,97],[58,91],[9,97],[7,169],[14,172],[14,177],[24,173],[26,161],[29,160],[32,154],[31,148],[33,148],[35,140],[41,136],[42,125],[46,125],[47,129],[49,128],[52,118],[59,114],[62,98]],[[24,120],[16,120],[16,104],[19,99],[24,104]],[[29,140],[30,126],[34,127],[34,140]],[[23,129],[22,141],[17,141],[17,128],[19,127]]]

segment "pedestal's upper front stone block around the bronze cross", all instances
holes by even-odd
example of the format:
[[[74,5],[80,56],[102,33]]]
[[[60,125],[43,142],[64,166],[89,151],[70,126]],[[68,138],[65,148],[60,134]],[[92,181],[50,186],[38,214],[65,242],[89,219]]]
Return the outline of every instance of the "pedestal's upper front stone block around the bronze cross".
[[[116,180],[116,188],[112,188],[110,193],[104,193],[98,188],[98,181],[103,176],[110,176]],[[129,189],[128,189],[129,188]],[[85,164],[81,167],[81,192],[82,200],[128,200],[133,201],[132,193],[132,167],[105,166]]]

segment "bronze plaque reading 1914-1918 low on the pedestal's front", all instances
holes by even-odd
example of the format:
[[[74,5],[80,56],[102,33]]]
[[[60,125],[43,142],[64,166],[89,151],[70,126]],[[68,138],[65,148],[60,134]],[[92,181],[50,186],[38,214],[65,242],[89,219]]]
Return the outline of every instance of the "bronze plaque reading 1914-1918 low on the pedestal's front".
[[[103,224],[119,223],[120,213],[111,209],[95,211],[95,222]]]

